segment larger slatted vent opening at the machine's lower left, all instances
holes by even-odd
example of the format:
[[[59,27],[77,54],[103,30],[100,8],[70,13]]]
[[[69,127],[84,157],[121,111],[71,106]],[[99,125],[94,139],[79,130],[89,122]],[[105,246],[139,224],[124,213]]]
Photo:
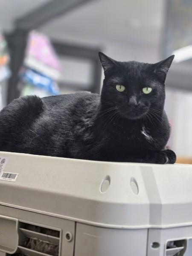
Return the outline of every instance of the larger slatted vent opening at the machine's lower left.
[[[20,222],[19,246],[15,256],[58,256],[60,232]]]

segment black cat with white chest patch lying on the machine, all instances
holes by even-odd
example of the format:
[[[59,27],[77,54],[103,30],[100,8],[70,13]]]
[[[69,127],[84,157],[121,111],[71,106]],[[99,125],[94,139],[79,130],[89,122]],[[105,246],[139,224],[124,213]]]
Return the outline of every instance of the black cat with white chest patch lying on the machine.
[[[25,96],[0,112],[0,151],[88,160],[175,163],[165,150],[166,73],[174,55],[156,64],[115,61],[99,52],[101,95]]]

